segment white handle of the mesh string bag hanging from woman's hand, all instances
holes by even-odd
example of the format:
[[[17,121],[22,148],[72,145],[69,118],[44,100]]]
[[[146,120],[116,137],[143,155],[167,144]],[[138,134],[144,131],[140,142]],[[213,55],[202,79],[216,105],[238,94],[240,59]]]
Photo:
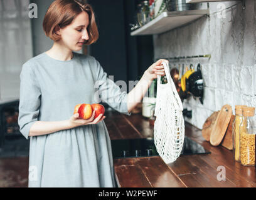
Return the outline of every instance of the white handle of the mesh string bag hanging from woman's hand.
[[[183,110],[183,104],[181,102],[181,99],[179,98],[179,94],[177,92],[177,89],[175,87],[173,79],[171,78],[171,73],[169,71],[169,64],[166,61],[163,61],[162,64],[164,66],[164,71],[166,73],[166,78],[168,81],[167,84],[169,84],[169,86],[171,86],[171,90],[173,91],[174,95],[176,96],[176,99],[178,100],[178,104],[179,104],[178,106],[179,106],[179,108],[181,108],[181,110]],[[161,84],[161,76],[157,75],[157,88],[160,84]]]

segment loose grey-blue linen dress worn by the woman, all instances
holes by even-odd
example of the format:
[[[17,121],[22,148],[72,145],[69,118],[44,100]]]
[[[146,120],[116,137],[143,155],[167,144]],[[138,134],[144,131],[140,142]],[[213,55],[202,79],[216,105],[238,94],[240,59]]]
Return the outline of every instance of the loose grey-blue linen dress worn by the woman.
[[[42,53],[21,69],[18,123],[30,139],[29,187],[115,187],[104,121],[28,136],[36,121],[70,119],[80,103],[104,101],[120,113],[131,114],[127,93],[107,78],[100,63],[93,56],[73,54],[70,61],[58,61]]]

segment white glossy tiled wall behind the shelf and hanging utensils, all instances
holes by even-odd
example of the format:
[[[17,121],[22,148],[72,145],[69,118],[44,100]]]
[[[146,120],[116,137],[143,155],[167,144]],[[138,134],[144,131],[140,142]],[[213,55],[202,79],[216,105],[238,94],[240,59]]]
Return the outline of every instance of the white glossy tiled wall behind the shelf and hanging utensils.
[[[192,110],[192,118],[185,120],[200,129],[225,104],[232,106],[233,114],[238,104],[256,107],[256,1],[247,0],[245,10],[239,2],[221,3],[227,8],[238,4],[219,18],[213,13],[218,2],[211,2],[210,17],[154,36],[155,58],[211,54],[211,59],[175,63],[201,63],[204,103],[193,97],[183,101],[183,107]],[[170,64],[173,68],[174,62]]]

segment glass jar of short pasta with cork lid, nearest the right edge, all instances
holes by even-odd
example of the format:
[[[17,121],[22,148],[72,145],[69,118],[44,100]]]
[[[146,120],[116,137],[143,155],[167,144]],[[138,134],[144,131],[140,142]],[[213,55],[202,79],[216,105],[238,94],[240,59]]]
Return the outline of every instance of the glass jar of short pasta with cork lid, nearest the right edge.
[[[255,166],[255,108],[242,109],[243,119],[239,127],[240,162],[244,166]]]

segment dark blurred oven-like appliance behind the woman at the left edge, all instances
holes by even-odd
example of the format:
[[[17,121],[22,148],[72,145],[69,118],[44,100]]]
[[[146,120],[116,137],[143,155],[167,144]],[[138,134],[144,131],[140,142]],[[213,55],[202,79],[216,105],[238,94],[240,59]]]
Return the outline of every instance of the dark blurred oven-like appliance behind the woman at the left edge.
[[[19,101],[0,104],[0,158],[28,156],[29,140],[19,132]]]

